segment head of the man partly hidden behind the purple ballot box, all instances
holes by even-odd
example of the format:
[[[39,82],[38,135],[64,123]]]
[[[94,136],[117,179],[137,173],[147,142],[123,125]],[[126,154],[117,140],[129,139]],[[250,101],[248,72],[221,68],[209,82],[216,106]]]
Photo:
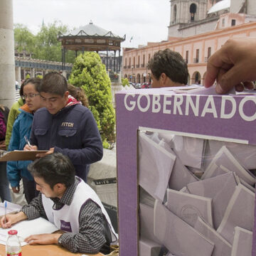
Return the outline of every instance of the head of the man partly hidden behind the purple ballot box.
[[[170,49],[159,50],[149,60],[152,87],[174,87],[188,82],[188,65],[182,56]]]

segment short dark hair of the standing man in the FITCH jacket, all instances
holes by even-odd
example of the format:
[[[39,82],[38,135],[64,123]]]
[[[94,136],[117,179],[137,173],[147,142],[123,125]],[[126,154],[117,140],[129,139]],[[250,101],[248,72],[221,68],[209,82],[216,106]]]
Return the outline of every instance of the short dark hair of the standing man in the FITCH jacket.
[[[67,80],[58,72],[47,73],[41,80],[39,92],[63,96],[66,91],[68,91]]]

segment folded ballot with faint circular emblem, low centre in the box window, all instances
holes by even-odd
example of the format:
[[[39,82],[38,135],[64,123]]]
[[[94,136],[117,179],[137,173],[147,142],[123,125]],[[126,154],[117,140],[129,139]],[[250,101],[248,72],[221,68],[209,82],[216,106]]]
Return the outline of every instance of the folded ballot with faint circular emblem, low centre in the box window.
[[[192,227],[199,216],[213,226],[211,198],[167,189],[166,207]]]

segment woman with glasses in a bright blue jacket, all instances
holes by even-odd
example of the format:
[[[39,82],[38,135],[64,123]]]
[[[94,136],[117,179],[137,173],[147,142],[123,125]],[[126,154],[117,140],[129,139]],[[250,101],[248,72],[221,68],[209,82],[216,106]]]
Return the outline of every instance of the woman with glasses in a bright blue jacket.
[[[40,78],[31,78],[26,80],[23,86],[23,95],[21,98],[26,101],[19,110],[21,114],[14,122],[11,132],[11,140],[9,143],[9,151],[23,150],[26,145],[26,138],[29,139],[31,134],[31,126],[33,122],[33,114],[39,108],[43,107],[41,97],[38,92],[40,86]],[[11,183],[11,189],[14,193],[19,193],[19,183],[22,178],[23,190],[28,203],[38,195],[36,191],[36,183],[33,176],[28,172],[27,166],[31,161],[8,161],[7,176]]]

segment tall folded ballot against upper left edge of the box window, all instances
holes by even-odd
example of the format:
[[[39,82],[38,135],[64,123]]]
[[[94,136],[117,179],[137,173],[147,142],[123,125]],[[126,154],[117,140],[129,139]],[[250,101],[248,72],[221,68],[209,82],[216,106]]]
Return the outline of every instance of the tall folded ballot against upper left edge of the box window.
[[[176,156],[139,132],[139,185],[164,200]]]

